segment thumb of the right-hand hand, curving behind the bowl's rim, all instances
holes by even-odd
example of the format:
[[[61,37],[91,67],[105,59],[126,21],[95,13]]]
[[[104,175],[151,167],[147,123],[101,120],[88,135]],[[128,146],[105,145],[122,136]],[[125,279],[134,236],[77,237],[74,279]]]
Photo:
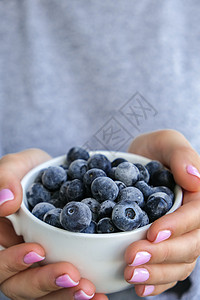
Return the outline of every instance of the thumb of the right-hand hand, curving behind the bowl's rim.
[[[133,140],[129,151],[159,160],[183,189],[200,191],[200,156],[178,131],[159,130]]]

